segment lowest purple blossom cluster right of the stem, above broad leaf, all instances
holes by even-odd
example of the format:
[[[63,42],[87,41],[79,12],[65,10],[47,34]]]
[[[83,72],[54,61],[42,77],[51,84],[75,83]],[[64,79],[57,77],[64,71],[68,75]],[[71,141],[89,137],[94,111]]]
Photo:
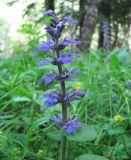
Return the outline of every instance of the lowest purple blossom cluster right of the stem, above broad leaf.
[[[73,134],[76,132],[78,128],[80,128],[82,125],[78,121],[78,119],[75,116],[72,116],[71,118],[68,119],[68,122],[64,124],[62,129],[67,133],[67,134]]]

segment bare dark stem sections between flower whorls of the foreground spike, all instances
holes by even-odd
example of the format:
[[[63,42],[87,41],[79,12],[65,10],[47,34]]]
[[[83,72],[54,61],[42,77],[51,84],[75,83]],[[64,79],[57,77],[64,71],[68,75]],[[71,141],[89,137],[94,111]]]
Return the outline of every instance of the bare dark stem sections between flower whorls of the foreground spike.
[[[58,40],[56,41],[56,45],[58,45]],[[60,57],[59,51],[57,51],[56,54],[57,54],[57,58],[59,58]],[[59,76],[62,77],[63,70],[62,70],[61,64],[58,64],[58,72],[59,72]],[[62,120],[65,123],[67,120],[67,106],[66,106],[66,102],[64,101],[64,98],[66,96],[65,82],[60,81],[60,86],[61,86],[61,94],[62,94]],[[61,145],[60,160],[65,160],[67,140],[63,132],[62,132],[62,142],[61,143],[62,145]]]

